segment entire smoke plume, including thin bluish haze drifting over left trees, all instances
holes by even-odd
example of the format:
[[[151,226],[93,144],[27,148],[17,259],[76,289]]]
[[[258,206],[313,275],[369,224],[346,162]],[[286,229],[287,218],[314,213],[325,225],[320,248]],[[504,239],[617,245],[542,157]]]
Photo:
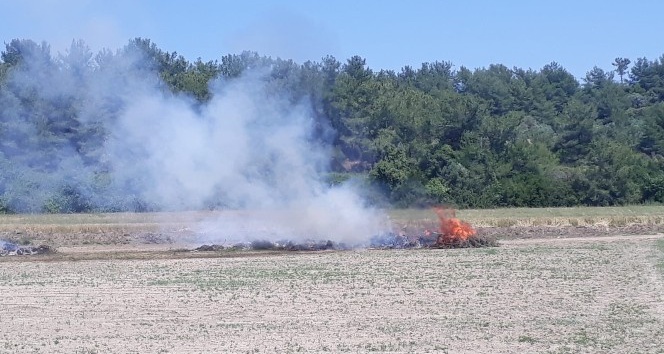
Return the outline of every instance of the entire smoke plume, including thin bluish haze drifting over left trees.
[[[5,205],[43,210],[64,195],[103,210],[226,210],[196,226],[201,242],[357,245],[385,228],[352,186],[322,181],[329,153],[312,135],[311,107],[268,89],[264,71],[215,80],[201,105],[171,93],[141,55],[79,47],[59,58],[68,70],[33,48],[0,93]],[[69,115],[51,115],[63,105]],[[40,122],[84,138],[45,134]]]

